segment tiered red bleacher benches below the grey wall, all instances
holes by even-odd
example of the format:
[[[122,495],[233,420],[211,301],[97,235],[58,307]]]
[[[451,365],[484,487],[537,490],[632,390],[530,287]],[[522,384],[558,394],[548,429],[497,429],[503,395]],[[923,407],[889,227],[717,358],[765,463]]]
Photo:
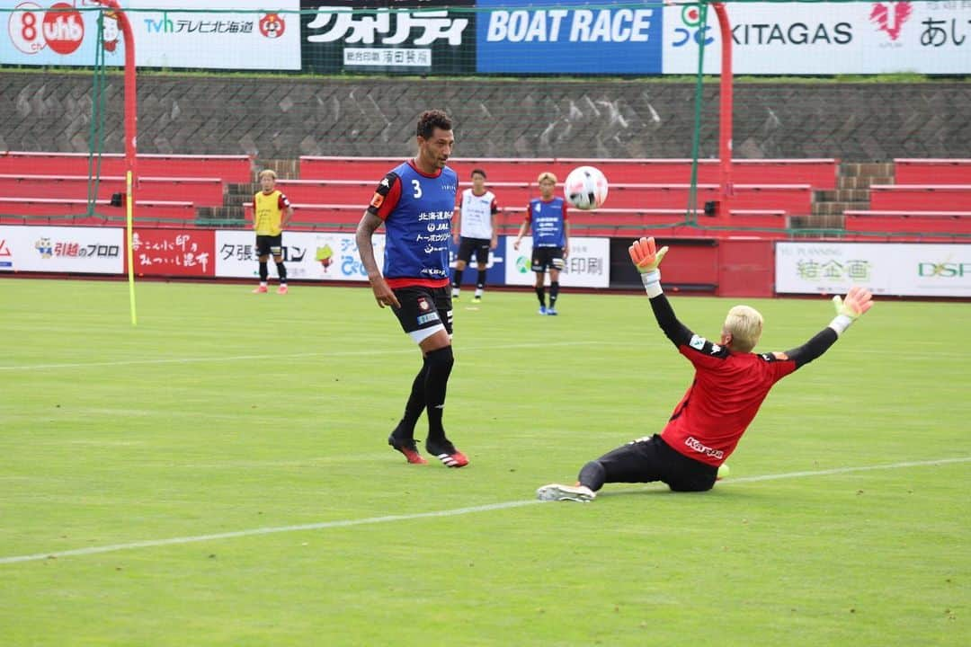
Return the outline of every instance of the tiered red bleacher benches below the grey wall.
[[[303,156],[299,159],[301,179],[281,178],[278,187],[294,203],[298,211],[295,221],[311,228],[352,229],[377,180],[401,161],[390,157]],[[112,208],[109,200],[112,194],[124,191],[124,159],[109,154],[103,156],[101,164],[96,210],[123,215],[123,210]],[[562,179],[577,166],[590,164],[610,178],[608,208],[571,210],[574,227],[585,235],[623,236],[638,228],[681,230],[690,199],[688,159],[456,157],[450,164],[461,178],[460,188],[471,185],[467,178],[473,168],[486,170],[488,186],[496,193],[501,208],[500,230],[504,234],[519,230],[522,209],[538,195],[532,180],[547,170]],[[894,160],[894,168],[896,177],[883,181],[895,183],[872,184],[868,203],[846,205],[842,217],[848,234],[947,237],[969,233],[971,159],[901,158]],[[221,212],[224,215],[214,220],[221,218],[224,224],[240,217],[242,201],[249,218],[248,193],[257,190],[251,169],[252,160],[246,155],[140,155],[137,217],[192,226],[206,224],[204,215],[210,212]],[[706,229],[708,235],[747,233],[735,227],[783,230],[790,225],[790,216],[804,216],[820,207],[817,201],[824,200],[820,196],[838,184],[840,169],[839,161],[832,158],[736,160],[732,165],[730,213],[727,218],[709,218],[704,207],[720,200],[720,168],[718,160],[699,160],[693,203],[697,215],[692,217],[697,228]],[[83,215],[87,173],[86,153],[0,152],[3,221],[41,223],[54,221],[57,216]],[[238,187],[238,193],[230,195],[230,187]],[[231,215],[233,210],[237,215]],[[693,235],[697,228],[686,234]],[[777,238],[780,233],[760,231],[757,235]]]

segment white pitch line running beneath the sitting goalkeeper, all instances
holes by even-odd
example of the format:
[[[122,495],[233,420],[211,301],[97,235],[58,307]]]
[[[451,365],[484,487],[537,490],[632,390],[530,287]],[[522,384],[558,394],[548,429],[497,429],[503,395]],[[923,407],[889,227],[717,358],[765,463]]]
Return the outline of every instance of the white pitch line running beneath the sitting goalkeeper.
[[[830,474],[848,474],[855,471],[872,471],[875,469],[903,469],[903,468],[925,468],[938,465],[949,465],[954,463],[968,463],[971,456],[961,458],[945,458],[934,461],[908,461],[906,463],[893,463],[891,465],[870,465],[858,468],[835,468],[817,469],[812,471],[790,471],[781,474],[764,474],[762,476],[743,476],[741,478],[728,478],[721,481],[719,487],[730,483],[754,483],[759,481],[771,481],[781,478],[801,478],[804,476],[826,476]],[[629,492],[639,492],[631,490]],[[612,494],[623,494],[616,492]],[[51,553],[37,553],[35,555],[15,555],[12,557],[0,557],[0,564],[17,564],[20,562],[38,562],[40,560],[50,560],[61,557],[77,557],[82,555],[97,555],[99,553],[115,553],[122,550],[134,550],[136,548],[153,548],[155,546],[175,546],[185,543],[198,543],[201,541],[213,541],[216,539],[234,539],[236,537],[255,536],[258,534],[280,534],[298,533],[301,531],[319,531],[329,528],[349,528],[351,526],[366,526],[370,524],[386,524],[394,521],[413,521],[415,519],[429,519],[437,517],[454,517],[462,514],[472,514],[475,512],[488,512],[490,510],[507,510],[514,507],[523,507],[541,503],[535,499],[526,501],[505,501],[501,503],[489,503],[487,505],[473,505],[470,507],[457,507],[451,510],[436,510],[432,512],[416,512],[414,514],[391,514],[384,517],[366,517],[364,519],[344,519],[339,521],[323,521],[316,524],[300,524],[298,526],[278,526],[273,528],[253,528],[247,531],[234,531],[231,533],[217,534],[196,534],[184,537],[171,537],[168,539],[148,539],[145,541],[132,541],[131,543],[116,543],[107,546],[91,546],[89,548],[77,548],[74,550],[62,550]]]

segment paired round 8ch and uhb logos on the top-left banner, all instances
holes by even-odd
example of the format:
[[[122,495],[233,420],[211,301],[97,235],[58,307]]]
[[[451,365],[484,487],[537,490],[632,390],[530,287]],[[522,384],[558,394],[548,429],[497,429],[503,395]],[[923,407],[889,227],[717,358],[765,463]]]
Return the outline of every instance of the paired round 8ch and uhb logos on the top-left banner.
[[[22,2],[11,12],[7,29],[14,47],[28,54],[49,47],[59,54],[70,54],[84,41],[81,12],[64,2],[46,11],[33,2]]]

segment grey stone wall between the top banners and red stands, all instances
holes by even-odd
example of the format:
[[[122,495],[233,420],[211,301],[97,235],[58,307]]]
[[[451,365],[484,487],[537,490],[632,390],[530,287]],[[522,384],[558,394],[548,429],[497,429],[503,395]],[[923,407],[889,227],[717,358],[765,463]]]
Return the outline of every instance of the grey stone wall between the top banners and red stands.
[[[694,85],[670,81],[139,78],[139,150],[402,156],[416,116],[452,114],[463,157],[688,157]],[[91,78],[0,73],[0,150],[86,151]],[[700,154],[718,155],[706,86]],[[120,152],[122,79],[108,77],[104,150]],[[737,83],[735,156],[968,157],[971,83]]]

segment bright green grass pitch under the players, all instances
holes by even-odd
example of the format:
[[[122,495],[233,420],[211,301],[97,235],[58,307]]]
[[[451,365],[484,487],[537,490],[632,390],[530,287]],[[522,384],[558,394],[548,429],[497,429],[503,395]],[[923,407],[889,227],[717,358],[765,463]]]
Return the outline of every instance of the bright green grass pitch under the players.
[[[578,504],[534,491],[690,381],[644,295],[463,295],[446,469],[385,444],[419,354],[369,290],[250,288],[139,284],[132,327],[124,283],[0,279],[0,645],[968,644],[967,304],[878,300],[714,491]],[[761,350],[832,314],[671,298]]]

